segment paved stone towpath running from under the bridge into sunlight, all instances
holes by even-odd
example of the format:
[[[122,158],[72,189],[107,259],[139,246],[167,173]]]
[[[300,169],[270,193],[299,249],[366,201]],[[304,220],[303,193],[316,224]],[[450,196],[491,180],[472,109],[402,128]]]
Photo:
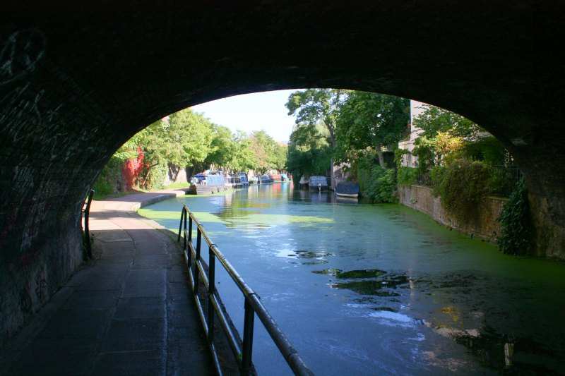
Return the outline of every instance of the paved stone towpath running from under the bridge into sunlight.
[[[142,203],[182,194],[93,202],[96,260],[40,312],[44,324],[35,323],[37,336],[21,346],[8,375],[212,373],[182,253],[172,234],[135,212]]]

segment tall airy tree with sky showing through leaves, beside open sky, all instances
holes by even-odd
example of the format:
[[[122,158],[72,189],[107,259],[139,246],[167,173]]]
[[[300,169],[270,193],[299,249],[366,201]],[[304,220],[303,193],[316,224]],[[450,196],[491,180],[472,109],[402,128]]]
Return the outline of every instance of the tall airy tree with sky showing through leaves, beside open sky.
[[[292,92],[286,103],[288,114],[296,116],[297,125],[314,127],[321,123],[326,126],[328,142],[333,151],[337,146],[335,127],[347,93],[347,90],[340,89],[307,89]],[[333,186],[333,157],[330,159],[330,171]]]

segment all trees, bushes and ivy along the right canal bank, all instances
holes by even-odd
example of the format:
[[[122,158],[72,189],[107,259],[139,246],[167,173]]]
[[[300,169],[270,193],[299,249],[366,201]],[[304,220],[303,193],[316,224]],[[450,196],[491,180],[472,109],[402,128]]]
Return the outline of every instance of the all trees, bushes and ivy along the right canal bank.
[[[293,92],[286,107],[296,116],[287,161],[295,181],[333,177],[336,164],[371,202],[396,202],[399,185],[429,186],[461,222],[477,218],[485,197],[510,196],[499,219],[500,248],[513,254],[528,248],[521,174],[504,145],[464,116],[426,106],[410,128],[408,99],[352,90]],[[417,162],[408,166],[403,160],[409,152],[398,142],[414,130]]]

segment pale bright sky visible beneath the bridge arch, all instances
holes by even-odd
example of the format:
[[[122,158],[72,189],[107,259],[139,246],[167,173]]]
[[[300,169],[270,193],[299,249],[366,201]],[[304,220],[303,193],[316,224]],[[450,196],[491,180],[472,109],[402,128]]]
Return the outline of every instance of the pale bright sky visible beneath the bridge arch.
[[[266,131],[280,142],[288,142],[294,116],[288,116],[285,107],[288,96],[296,90],[277,90],[236,95],[192,107],[213,123],[227,126],[233,132]]]

